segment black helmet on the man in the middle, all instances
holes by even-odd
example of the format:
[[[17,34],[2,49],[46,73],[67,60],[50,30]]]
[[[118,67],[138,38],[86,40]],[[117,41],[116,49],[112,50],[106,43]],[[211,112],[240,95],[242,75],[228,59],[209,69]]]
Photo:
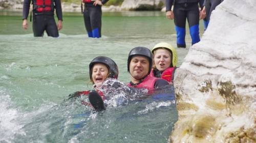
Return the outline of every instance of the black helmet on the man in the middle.
[[[135,47],[130,51],[130,53],[128,55],[128,60],[127,60],[127,71],[130,73],[130,63],[131,63],[133,56],[135,56],[135,55],[145,56],[148,59],[148,61],[150,62],[150,68],[148,70],[148,74],[150,74],[151,69],[152,69],[153,54],[150,51],[150,49],[145,48],[145,47]]]

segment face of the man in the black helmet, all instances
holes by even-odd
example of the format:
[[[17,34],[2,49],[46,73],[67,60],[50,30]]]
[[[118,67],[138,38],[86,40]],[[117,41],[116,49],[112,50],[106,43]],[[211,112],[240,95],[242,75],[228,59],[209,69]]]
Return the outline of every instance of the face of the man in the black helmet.
[[[130,73],[132,81],[134,79],[142,79],[148,74],[150,68],[150,61],[144,56],[134,56],[130,62]]]

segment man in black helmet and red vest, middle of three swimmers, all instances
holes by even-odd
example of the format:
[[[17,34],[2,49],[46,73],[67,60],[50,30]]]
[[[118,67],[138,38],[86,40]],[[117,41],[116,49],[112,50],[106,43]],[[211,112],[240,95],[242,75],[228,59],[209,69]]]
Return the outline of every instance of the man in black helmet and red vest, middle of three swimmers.
[[[145,88],[150,92],[168,85],[166,80],[149,76],[152,58],[152,52],[145,47],[135,47],[130,51],[127,60],[127,69],[131,74],[129,87]]]

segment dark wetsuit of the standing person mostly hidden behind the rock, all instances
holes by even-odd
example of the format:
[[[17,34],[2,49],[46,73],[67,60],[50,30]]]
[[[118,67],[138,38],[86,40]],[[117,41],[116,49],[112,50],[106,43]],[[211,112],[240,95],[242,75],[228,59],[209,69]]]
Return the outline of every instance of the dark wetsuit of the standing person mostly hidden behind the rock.
[[[206,30],[209,20],[210,20],[210,15],[213,10],[222,2],[222,0],[204,0],[204,6],[205,6],[205,11],[206,11],[206,17],[204,18],[204,30]]]

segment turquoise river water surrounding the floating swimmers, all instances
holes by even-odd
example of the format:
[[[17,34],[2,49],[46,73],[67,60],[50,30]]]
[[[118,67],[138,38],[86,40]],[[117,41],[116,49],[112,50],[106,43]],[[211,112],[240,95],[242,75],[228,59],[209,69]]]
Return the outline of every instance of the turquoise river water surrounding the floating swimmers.
[[[126,83],[132,48],[175,45],[173,21],[164,13],[103,13],[101,39],[87,37],[79,13],[65,13],[59,38],[34,38],[32,23],[22,29],[19,12],[0,14],[0,142],[167,142],[177,121],[173,101],[111,103],[98,115],[81,105],[87,97],[67,100],[92,88],[88,67],[95,56],[116,61]],[[188,48],[177,51],[181,65]]]

